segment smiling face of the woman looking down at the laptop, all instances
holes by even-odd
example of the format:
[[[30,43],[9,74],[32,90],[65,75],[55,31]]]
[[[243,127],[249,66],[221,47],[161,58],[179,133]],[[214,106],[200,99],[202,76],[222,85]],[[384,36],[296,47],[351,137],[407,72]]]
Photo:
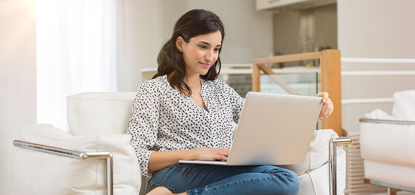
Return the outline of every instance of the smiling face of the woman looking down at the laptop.
[[[191,38],[188,43],[183,41],[182,47],[178,47],[178,49],[182,49],[187,76],[207,74],[210,66],[219,57],[221,41],[220,31],[198,35]]]

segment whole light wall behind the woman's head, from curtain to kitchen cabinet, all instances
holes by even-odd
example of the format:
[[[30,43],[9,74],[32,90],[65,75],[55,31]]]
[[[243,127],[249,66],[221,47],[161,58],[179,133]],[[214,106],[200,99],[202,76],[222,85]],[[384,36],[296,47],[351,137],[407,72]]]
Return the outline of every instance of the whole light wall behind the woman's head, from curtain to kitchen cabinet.
[[[176,20],[191,9],[212,11],[224,22],[222,63],[251,63],[272,55],[272,13],[256,11],[255,0],[125,0],[118,8],[126,29],[119,37],[124,44],[118,48],[119,91],[135,91],[139,70],[157,67],[157,55]]]

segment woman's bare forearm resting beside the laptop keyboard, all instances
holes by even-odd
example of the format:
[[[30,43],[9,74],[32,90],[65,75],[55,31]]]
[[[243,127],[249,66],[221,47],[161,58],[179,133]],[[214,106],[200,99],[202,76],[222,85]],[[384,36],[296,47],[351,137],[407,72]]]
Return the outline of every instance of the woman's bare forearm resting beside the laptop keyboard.
[[[197,159],[196,150],[176,150],[166,152],[152,152],[148,160],[148,171],[159,171],[170,165],[179,163],[179,160]]]

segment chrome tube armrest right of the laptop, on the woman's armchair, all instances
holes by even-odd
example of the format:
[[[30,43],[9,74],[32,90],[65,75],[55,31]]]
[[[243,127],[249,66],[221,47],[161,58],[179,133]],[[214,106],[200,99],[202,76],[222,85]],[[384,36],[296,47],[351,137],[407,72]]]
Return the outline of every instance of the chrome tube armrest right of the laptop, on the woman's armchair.
[[[337,137],[330,139],[329,144],[329,160],[330,160],[330,195],[337,195],[337,159],[336,159],[336,146],[337,144],[350,144],[352,143],[351,137]]]

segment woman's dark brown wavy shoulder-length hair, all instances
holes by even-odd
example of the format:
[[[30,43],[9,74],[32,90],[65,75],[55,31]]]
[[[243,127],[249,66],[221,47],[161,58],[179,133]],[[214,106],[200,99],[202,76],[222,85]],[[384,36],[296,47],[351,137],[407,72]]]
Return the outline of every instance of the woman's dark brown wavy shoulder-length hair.
[[[173,73],[169,82],[171,87],[179,89],[181,93],[191,95],[189,86],[184,82],[186,76],[185,61],[183,54],[176,47],[176,39],[181,36],[185,42],[198,35],[205,35],[220,31],[222,40],[225,38],[225,28],[219,17],[213,12],[194,9],[188,11],[174,25],[173,35],[161,48],[157,57],[157,74],[153,78]],[[219,49],[219,54],[222,47]],[[218,56],[216,62],[209,68],[206,75],[201,75],[204,80],[214,80],[218,77],[221,69],[221,59]]]

